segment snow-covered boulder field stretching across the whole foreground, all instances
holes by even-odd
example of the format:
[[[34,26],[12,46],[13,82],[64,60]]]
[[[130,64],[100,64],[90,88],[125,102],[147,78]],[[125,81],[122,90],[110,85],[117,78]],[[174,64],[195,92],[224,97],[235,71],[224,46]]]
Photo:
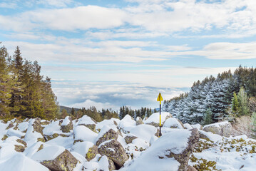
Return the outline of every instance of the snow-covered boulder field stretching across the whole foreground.
[[[165,156],[168,156],[167,152],[180,154],[188,147],[192,128],[199,130],[201,138],[190,156],[188,165],[198,170],[256,170],[256,140],[245,135],[225,138],[200,130],[200,125],[182,125],[176,119],[168,119],[168,115],[162,113],[163,136],[160,138],[157,136],[158,128],[151,124],[159,125],[159,113],[143,120],[145,124],[141,125],[136,125],[129,115],[123,120],[103,120],[100,123],[83,116],[72,121],[73,128],[68,133],[61,130],[62,126],[70,125],[68,118],[52,120],[47,125],[42,125],[41,131],[34,126],[34,119],[0,122],[0,170],[46,171],[49,168],[46,167],[46,162],[68,151],[70,153],[67,153],[67,156],[71,155],[78,160],[72,170],[107,171],[111,168],[111,157],[101,155],[100,152],[91,155],[90,152],[93,147],[97,150],[114,139],[128,155],[128,160],[121,168],[116,167],[116,170],[178,170],[180,162],[174,157]],[[94,130],[86,127],[93,124],[96,128]],[[113,138],[106,135],[109,130],[116,133]],[[96,142],[105,137],[109,140],[106,139],[97,147]],[[115,152],[111,147],[107,150]]]

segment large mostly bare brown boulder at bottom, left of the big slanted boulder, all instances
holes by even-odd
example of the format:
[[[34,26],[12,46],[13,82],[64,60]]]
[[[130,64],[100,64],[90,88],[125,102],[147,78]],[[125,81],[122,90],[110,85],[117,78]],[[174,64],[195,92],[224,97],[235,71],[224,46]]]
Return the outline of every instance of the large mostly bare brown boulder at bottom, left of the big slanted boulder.
[[[98,147],[98,152],[101,155],[106,155],[116,164],[118,168],[122,167],[123,164],[128,160],[128,155],[123,149],[120,142],[116,140],[108,140],[101,143]]]

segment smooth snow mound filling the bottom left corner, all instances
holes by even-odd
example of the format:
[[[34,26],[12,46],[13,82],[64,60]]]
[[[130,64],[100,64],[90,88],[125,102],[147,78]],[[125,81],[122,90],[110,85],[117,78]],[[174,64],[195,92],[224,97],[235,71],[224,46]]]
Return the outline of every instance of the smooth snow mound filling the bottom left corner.
[[[44,167],[39,162],[32,160],[29,157],[26,157],[22,153],[17,153],[10,157],[9,160],[3,161],[0,160],[0,170],[8,171],[48,171],[47,167]]]

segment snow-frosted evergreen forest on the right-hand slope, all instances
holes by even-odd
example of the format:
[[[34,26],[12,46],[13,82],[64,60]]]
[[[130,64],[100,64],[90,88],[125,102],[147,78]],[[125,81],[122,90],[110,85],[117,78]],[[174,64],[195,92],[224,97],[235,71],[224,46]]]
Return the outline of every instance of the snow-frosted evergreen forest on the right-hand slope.
[[[216,78],[210,76],[203,81],[197,81],[188,93],[165,101],[163,110],[172,113],[183,123],[204,123],[206,114],[210,113],[207,120],[212,120],[211,122],[215,123],[230,116],[232,99],[234,94],[241,91],[241,88],[244,88],[247,95],[247,103],[255,101],[255,68],[240,66],[234,73],[225,71],[219,73]],[[240,94],[242,95],[242,93]],[[253,112],[253,110],[249,110],[248,115],[252,115]]]

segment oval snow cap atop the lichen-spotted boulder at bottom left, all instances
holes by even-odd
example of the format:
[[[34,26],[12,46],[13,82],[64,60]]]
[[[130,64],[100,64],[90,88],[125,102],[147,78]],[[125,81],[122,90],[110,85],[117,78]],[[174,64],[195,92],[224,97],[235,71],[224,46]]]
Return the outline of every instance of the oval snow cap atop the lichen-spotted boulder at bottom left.
[[[58,145],[49,145],[47,147],[43,147],[42,150],[36,152],[34,155],[31,156],[31,158],[39,162],[42,162],[43,160],[53,160],[58,157],[58,155],[61,155],[61,153],[64,151],[64,147]]]

